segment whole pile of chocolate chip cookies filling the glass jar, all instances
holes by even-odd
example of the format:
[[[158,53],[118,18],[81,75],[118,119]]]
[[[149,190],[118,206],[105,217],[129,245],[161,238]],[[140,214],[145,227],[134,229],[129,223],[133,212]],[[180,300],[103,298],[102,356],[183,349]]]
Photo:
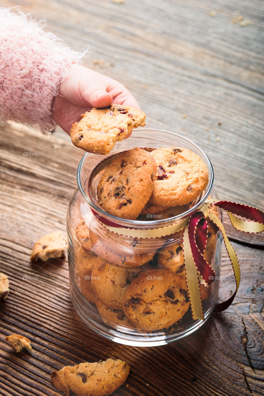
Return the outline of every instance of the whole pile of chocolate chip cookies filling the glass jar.
[[[116,154],[103,168],[97,200],[106,213],[134,224],[166,220],[193,207],[208,179],[203,160],[187,148],[134,148]],[[210,210],[218,215],[216,208]],[[75,230],[79,293],[112,327],[155,331],[181,326],[190,317],[183,232],[151,238],[126,236],[89,210]],[[216,234],[217,228],[209,221],[203,254],[209,264]],[[210,287],[200,284],[203,303]]]

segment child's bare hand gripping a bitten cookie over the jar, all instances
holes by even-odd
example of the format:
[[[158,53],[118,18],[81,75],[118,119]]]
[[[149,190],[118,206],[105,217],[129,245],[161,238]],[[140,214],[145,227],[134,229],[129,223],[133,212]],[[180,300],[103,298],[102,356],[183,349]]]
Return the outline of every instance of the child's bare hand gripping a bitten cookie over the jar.
[[[80,65],[72,65],[54,98],[52,118],[65,132],[80,121],[81,114],[92,107],[106,107],[111,103],[139,105],[131,93],[119,82]]]

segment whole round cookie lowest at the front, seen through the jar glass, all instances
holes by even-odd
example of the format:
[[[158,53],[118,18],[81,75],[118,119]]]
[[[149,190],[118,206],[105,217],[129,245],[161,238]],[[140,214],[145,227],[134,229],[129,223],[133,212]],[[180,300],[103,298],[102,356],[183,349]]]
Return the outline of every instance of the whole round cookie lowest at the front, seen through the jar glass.
[[[123,299],[127,318],[145,330],[171,326],[188,308],[186,280],[167,268],[139,274],[126,289]]]

